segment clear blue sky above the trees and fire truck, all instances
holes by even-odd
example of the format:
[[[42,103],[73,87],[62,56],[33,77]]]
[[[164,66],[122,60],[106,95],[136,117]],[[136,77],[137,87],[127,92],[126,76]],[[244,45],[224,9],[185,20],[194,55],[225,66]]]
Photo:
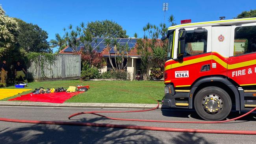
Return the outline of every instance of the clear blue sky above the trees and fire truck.
[[[150,22],[163,22],[162,5],[169,3],[167,17],[173,14],[176,23],[182,19],[192,22],[218,20],[220,16],[231,19],[242,11],[256,9],[255,0],[1,0],[0,4],[10,17],[37,24],[48,32],[48,40],[55,33],[72,24],[95,20],[113,20],[120,24],[127,35],[138,33]]]

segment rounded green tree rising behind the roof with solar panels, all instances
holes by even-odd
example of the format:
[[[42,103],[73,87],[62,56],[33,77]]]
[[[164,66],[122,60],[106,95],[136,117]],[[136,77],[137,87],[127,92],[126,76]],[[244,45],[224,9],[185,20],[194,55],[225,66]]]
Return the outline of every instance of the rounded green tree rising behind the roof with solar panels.
[[[88,22],[87,30],[89,30],[94,37],[128,38],[126,30],[123,30],[122,26],[112,20]]]

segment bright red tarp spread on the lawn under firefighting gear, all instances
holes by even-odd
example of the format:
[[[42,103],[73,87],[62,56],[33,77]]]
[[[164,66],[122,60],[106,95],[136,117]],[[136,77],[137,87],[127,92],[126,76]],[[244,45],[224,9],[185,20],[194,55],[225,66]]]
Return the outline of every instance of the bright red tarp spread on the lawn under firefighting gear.
[[[30,101],[30,102],[47,102],[47,103],[63,103],[66,100],[72,98],[77,94],[81,94],[83,92],[54,92],[50,94],[26,94],[19,96],[17,98],[10,99],[12,100],[20,100],[20,101]]]

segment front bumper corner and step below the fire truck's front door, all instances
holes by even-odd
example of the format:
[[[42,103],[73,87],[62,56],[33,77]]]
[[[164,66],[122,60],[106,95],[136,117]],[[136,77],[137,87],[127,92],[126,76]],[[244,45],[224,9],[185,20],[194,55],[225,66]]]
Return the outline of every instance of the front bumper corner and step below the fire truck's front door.
[[[186,108],[186,109],[190,108],[189,92],[180,92],[180,91],[182,90],[175,90],[173,85],[170,85],[170,84],[166,85],[165,96],[163,98],[163,107]]]

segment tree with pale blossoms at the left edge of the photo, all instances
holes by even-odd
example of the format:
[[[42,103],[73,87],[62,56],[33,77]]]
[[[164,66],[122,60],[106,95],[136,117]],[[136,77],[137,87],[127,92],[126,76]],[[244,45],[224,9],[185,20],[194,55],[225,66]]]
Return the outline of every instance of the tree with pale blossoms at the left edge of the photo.
[[[0,6],[0,56],[15,49],[19,26],[14,18],[8,17]]]

